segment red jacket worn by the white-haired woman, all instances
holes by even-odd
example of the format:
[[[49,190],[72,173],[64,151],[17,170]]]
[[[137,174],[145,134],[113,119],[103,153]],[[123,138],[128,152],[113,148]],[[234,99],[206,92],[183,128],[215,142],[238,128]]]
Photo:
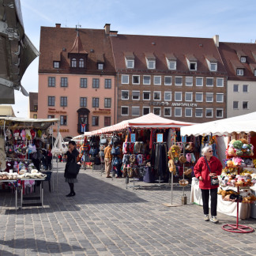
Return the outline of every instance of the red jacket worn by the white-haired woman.
[[[221,174],[222,164],[215,156],[212,156],[208,162],[211,172],[215,172],[216,175]],[[197,164],[194,166],[194,175],[199,179],[199,187],[203,190],[209,190],[218,187],[219,185],[211,186],[211,177],[209,176],[209,168],[205,162],[205,158],[202,156],[198,159]]]

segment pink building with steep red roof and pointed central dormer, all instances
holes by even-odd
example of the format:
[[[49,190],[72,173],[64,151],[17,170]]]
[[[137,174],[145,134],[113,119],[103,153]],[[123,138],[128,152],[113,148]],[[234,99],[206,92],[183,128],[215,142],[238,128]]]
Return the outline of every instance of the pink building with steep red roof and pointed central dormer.
[[[61,28],[60,24],[41,28],[38,118],[60,119],[62,137],[115,123],[109,34],[109,24],[105,30]]]

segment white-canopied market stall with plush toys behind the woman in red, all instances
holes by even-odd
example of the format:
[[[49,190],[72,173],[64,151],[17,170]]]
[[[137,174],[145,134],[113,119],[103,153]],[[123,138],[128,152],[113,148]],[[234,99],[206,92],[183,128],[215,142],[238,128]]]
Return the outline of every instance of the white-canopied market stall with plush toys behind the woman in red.
[[[224,163],[224,168],[219,176],[217,210],[242,219],[255,217],[255,133],[256,112],[190,126],[189,130],[181,128],[182,136],[216,136],[218,141],[224,141],[218,148],[221,152],[219,159]],[[201,205],[201,193],[196,180],[193,185],[191,201]],[[239,229],[237,227],[236,230]]]

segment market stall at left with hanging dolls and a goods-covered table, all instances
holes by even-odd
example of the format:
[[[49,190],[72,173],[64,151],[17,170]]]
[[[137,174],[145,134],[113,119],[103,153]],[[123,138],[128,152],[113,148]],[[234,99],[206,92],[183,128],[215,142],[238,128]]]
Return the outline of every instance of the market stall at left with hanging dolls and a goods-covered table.
[[[15,189],[16,208],[17,190],[21,192],[21,204],[31,194],[37,182],[40,186],[40,205],[43,206],[43,181],[50,174],[47,169],[47,152],[51,151],[53,137],[50,126],[58,119],[20,119],[0,117],[0,183],[2,189]],[[21,205],[22,207],[22,205]]]

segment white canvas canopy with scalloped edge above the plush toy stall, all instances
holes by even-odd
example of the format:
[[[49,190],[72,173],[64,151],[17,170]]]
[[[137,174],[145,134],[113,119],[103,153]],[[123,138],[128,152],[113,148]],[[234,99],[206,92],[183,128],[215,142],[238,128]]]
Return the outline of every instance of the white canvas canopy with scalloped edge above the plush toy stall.
[[[233,132],[250,133],[256,132],[256,112],[246,115],[239,115],[228,119],[221,119],[212,122],[199,123],[194,126],[182,127],[181,136],[221,136],[232,134]]]

